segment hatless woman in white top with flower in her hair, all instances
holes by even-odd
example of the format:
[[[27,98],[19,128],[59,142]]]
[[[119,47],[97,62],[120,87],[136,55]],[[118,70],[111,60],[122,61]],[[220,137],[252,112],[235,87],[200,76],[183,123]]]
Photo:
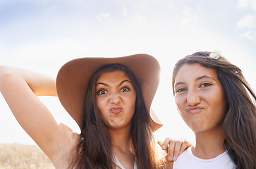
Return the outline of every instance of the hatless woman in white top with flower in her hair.
[[[236,65],[197,52],[176,63],[172,86],[196,139],[173,168],[256,168],[256,96]]]

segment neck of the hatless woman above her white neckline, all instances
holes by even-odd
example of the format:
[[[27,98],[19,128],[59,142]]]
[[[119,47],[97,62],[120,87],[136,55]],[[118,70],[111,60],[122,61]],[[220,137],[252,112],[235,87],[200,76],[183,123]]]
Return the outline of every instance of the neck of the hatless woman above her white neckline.
[[[192,148],[192,152],[198,158],[214,158],[226,151],[222,126],[209,132],[195,132],[195,139],[196,145]]]

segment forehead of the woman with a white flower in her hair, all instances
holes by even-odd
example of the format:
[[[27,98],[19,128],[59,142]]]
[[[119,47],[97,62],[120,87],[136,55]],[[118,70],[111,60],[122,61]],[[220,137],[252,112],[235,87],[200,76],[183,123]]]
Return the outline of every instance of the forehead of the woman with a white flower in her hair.
[[[218,75],[214,68],[205,68],[204,66],[200,65],[200,63],[185,63],[178,70],[175,77],[175,82],[184,80],[195,80],[198,77],[202,77],[205,75],[213,77],[215,80],[218,80]]]

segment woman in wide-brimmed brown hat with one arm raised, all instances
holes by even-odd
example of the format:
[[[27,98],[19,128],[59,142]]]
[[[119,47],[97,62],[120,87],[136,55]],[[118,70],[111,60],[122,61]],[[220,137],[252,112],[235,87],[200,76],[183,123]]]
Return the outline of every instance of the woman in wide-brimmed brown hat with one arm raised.
[[[0,90],[18,123],[56,168],[160,168],[152,132],[161,123],[150,111],[159,73],[158,61],[147,54],[74,59],[59,70],[56,82],[2,66]],[[37,98],[42,95],[59,96],[81,133],[56,123]],[[177,141],[176,152],[187,146]]]

